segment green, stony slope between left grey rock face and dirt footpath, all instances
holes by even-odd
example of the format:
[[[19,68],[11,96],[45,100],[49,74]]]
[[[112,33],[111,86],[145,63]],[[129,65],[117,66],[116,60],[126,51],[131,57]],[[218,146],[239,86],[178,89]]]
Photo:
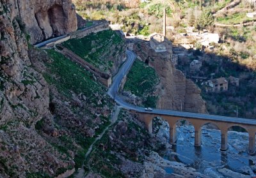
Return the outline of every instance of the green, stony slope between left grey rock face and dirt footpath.
[[[47,50],[47,56],[50,58],[43,75],[51,86],[49,107],[54,119],[42,119],[35,128],[52,147],[74,159],[75,167],[80,168],[90,144],[110,124],[113,103],[91,73],[54,50]],[[59,137],[44,134],[49,122]]]

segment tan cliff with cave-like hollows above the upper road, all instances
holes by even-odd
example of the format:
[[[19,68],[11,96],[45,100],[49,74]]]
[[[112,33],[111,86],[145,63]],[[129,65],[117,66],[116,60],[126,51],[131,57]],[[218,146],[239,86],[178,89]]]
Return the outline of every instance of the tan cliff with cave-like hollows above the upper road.
[[[31,43],[77,29],[76,9],[71,0],[5,1],[11,17],[19,17],[31,35]]]

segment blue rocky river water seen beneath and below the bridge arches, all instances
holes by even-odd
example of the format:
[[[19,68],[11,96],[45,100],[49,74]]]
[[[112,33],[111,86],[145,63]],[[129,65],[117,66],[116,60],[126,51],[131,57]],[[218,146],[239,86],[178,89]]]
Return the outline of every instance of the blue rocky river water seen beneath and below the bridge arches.
[[[206,177],[253,177],[256,172],[256,158],[247,154],[248,133],[228,132],[228,151],[220,151],[220,131],[202,128],[202,147],[193,146],[195,132],[189,123],[178,124],[177,143],[168,144],[167,122],[154,121],[154,135],[166,142],[166,149],[159,151],[161,159],[182,163],[194,168],[200,176]],[[172,168],[172,166],[170,166]],[[180,168],[182,170],[182,168]],[[203,176],[203,177],[204,177]],[[193,177],[193,176],[191,176]]]

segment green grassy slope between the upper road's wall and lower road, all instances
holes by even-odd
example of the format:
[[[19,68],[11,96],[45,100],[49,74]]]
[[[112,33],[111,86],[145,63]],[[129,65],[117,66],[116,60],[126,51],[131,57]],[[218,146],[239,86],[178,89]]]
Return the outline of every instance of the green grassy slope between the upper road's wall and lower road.
[[[116,60],[123,56],[122,53],[125,52],[124,45],[124,40],[115,31],[111,30],[92,33],[83,38],[73,38],[63,43],[64,47],[77,54],[77,56],[96,68],[108,72],[112,70]]]

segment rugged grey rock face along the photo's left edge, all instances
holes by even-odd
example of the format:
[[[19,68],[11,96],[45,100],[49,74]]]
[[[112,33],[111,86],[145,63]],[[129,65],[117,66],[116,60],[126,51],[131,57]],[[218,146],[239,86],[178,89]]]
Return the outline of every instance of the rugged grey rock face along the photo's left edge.
[[[0,6],[0,125],[17,117],[30,126],[40,119],[36,115],[48,114],[49,91],[42,75],[29,68],[27,42],[8,2]]]

